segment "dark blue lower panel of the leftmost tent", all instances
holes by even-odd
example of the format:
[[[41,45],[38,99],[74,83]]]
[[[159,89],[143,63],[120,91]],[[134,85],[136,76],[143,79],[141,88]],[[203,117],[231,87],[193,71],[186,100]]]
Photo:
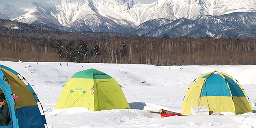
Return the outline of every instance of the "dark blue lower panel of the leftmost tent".
[[[41,115],[38,106],[18,108],[17,114],[19,128],[45,128],[45,117]]]

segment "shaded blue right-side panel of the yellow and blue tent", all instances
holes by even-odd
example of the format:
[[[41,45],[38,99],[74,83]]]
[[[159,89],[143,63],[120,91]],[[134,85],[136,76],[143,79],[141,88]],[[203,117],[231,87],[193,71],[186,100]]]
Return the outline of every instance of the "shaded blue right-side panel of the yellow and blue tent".
[[[232,80],[230,77],[228,76],[225,76],[223,75],[226,80],[227,80],[227,83],[230,87],[230,91],[232,93],[232,96],[238,96],[238,97],[244,97],[244,93],[243,91],[241,90],[241,88],[239,87],[238,84],[236,84],[236,82],[234,80]]]

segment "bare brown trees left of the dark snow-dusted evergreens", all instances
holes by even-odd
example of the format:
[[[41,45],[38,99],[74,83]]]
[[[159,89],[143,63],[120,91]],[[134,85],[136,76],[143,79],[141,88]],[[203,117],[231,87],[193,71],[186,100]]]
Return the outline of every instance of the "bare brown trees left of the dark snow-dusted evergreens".
[[[55,49],[26,39],[0,36],[0,59],[9,61],[59,61]]]

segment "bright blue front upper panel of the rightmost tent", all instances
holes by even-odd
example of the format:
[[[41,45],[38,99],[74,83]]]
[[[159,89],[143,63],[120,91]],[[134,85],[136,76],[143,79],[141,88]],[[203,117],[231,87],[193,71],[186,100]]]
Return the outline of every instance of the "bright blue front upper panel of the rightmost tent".
[[[201,96],[231,96],[225,79],[220,74],[212,74],[208,77]]]

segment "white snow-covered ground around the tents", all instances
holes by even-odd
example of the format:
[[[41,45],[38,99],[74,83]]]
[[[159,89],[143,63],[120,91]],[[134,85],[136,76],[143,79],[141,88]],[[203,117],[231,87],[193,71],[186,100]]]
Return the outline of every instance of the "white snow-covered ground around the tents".
[[[183,97],[193,80],[211,71],[220,71],[237,79],[253,104],[256,98],[255,65],[154,66],[68,63],[67,67],[67,63],[63,62],[60,66],[60,62],[39,62],[37,64],[37,62],[10,61],[0,61],[0,64],[12,68],[28,80],[44,107],[48,128],[256,127],[255,112],[247,118],[245,117],[249,113],[229,116],[172,116],[165,118],[161,118],[159,114],[146,113],[146,110],[158,111],[160,108],[180,112]],[[124,87],[122,90],[128,103],[140,102],[146,103],[147,106],[144,107],[144,110],[119,109],[66,115],[53,114],[52,110],[62,91],[60,87],[76,72],[89,68],[112,76]]]

